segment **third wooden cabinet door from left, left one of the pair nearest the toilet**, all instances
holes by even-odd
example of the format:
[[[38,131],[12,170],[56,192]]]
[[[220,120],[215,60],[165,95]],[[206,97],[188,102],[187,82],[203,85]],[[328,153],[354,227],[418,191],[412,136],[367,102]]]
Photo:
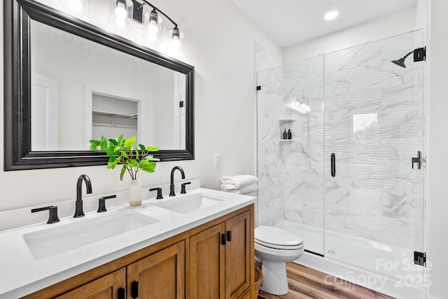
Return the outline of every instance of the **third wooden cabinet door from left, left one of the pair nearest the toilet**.
[[[224,231],[225,224],[221,223],[187,240],[187,298],[224,298],[225,245],[222,244]]]

